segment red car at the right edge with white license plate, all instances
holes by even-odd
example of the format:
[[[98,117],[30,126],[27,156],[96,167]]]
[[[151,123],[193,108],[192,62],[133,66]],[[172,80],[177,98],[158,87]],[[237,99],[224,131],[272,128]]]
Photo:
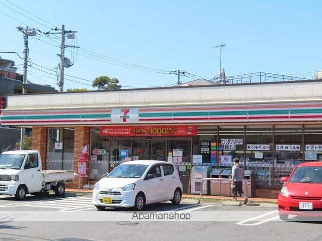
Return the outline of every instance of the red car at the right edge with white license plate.
[[[280,181],[285,182],[277,198],[281,220],[287,220],[289,214],[322,216],[322,162],[299,164],[289,178]]]

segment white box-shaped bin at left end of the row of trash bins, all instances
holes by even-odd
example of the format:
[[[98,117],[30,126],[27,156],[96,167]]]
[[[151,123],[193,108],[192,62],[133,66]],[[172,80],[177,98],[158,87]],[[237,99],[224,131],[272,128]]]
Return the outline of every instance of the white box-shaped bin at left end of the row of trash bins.
[[[210,177],[210,166],[193,166],[191,169],[191,193],[200,194],[201,181],[206,177]],[[210,194],[209,181],[203,182],[202,194]]]

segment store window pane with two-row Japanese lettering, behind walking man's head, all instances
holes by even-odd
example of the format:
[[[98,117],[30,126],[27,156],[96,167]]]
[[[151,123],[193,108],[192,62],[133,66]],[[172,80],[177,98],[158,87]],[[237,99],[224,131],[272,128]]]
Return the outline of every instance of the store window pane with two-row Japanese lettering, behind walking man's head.
[[[244,159],[244,126],[219,127],[218,161],[222,167],[232,166],[232,159]]]

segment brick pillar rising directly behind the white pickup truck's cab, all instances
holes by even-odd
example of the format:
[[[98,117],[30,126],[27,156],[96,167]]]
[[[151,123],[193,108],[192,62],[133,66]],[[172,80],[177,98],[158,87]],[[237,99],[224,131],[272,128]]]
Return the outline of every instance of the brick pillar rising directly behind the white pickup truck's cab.
[[[32,128],[32,150],[38,150],[41,156],[42,169],[46,169],[47,128]]]

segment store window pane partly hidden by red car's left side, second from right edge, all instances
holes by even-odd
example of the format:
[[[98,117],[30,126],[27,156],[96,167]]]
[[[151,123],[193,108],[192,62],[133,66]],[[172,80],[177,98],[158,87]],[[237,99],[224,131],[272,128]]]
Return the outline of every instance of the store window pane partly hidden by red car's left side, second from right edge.
[[[303,126],[274,127],[274,185],[281,186],[279,179],[290,176],[292,169],[303,159]]]

